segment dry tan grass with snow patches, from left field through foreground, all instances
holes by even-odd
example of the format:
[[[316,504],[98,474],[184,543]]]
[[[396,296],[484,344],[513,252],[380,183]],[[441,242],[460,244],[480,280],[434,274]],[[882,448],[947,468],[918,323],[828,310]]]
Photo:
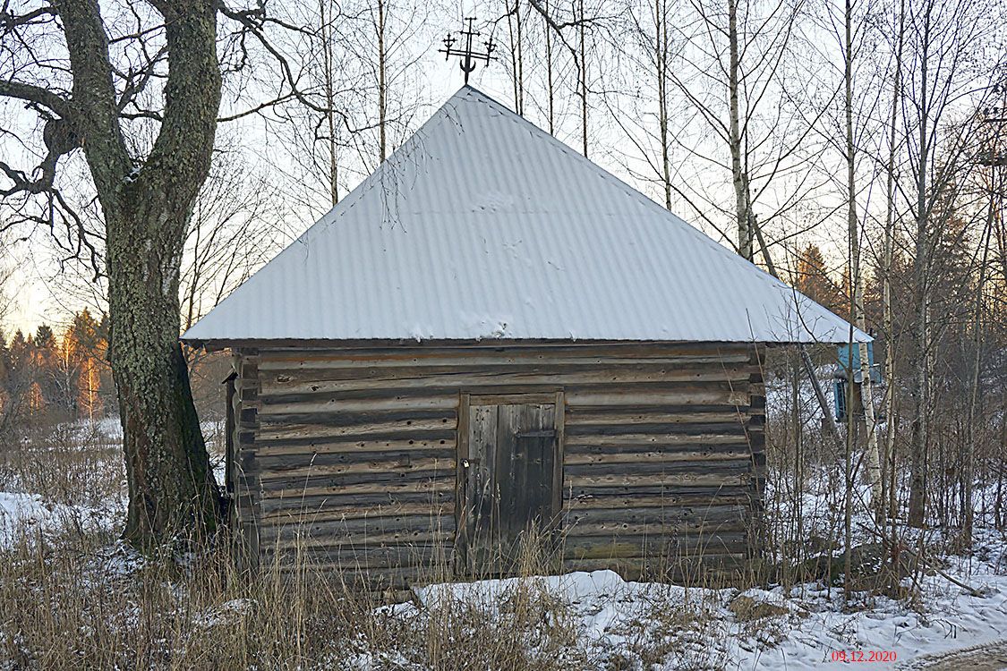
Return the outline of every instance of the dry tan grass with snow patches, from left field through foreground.
[[[671,650],[657,630],[625,654],[599,647],[567,596],[534,578],[491,597],[444,589],[389,604],[303,561],[253,576],[223,548],[142,557],[117,540],[119,447],[87,428],[8,444],[0,491],[52,504],[44,524],[3,534],[0,669],[642,669]],[[107,514],[87,523],[93,509]],[[525,544],[519,575],[550,572],[541,546]],[[662,630],[693,626],[673,612]]]

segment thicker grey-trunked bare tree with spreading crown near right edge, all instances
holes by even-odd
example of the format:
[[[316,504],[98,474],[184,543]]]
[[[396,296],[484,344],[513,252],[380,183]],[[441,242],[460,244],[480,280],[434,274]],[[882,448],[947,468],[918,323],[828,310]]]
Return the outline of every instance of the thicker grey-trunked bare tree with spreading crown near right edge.
[[[921,0],[906,10],[902,124],[911,131],[911,183],[904,193],[913,217],[914,328],[911,331],[911,450],[909,523],[923,525],[934,343],[933,253],[945,233],[961,185],[975,162],[977,113],[995,83],[996,62],[977,59],[993,32],[984,3]]]

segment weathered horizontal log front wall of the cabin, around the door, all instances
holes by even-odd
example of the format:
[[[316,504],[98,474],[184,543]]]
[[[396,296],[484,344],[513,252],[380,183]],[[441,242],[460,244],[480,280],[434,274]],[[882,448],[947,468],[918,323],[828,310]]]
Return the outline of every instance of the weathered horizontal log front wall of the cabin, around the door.
[[[723,343],[243,348],[234,525],[253,562],[298,554],[422,579],[454,553],[461,394],[562,391],[568,568],[743,562],[765,467],[759,355]]]

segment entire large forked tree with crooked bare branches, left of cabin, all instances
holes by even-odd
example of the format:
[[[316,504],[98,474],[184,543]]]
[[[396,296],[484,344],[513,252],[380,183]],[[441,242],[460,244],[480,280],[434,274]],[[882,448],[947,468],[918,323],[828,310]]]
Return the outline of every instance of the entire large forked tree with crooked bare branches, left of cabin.
[[[242,93],[253,92],[238,100],[258,96],[231,119],[289,101],[319,108],[269,39],[302,28],[268,16],[261,1],[0,3],[0,196],[6,220],[43,222],[107,283],[129,482],[124,537],[149,547],[208,533],[221,494],[178,342],[179,267],[226,77],[238,72]],[[263,55],[269,83],[250,71]],[[87,167],[83,184],[75,164]],[[75,205],[89,194],[98,230]]]

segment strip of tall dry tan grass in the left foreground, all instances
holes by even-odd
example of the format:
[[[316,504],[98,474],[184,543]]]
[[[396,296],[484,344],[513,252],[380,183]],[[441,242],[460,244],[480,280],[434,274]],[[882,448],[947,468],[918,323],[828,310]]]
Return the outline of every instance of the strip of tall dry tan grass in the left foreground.
[[[0,658],[38,669],[595,668],[567,604],[535,580],[404,610],[306,565],[253,579],[224,553],[147,562],[111,541],[26,534],[0,554]]]

